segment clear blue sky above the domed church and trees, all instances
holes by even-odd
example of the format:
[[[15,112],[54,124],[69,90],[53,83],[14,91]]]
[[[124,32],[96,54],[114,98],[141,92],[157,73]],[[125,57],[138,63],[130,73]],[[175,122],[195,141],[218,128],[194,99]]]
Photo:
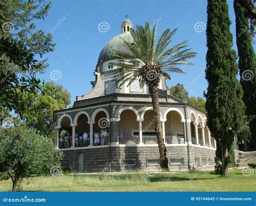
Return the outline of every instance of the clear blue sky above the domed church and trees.
[[[233,0],[228,0],[228,4],[234,37]],[[59,70],[61,78],[55,83],[68,89],[73,104],[77,95],[91,91],[90,81],[95,80],[93,72],[99,53],[111,38],[121,33],[120,25],[125,15],[129,15],[133,25],[144,24],[145,21],[152,25],[158,20],[158,34],[167,28],[178,28],[172,45],[188,40],[189,47],[198,54],[192,59],[193,66],[182,67],[186,74],[171,74],[172,80],[167,81],[167,86],[184,84],[190,96],[202,97],[207,90],[204,73],[206,6],[207,0],[52,1],[49,16],[36,24],[38,29],[52,32],[56,47],[55,51],[46,54],[50,66],[38,77],[51,81],[51,72]],[[107,25],[105,32],[99,30],[99,24]],[[237,49],[235,42],[234,49]]]

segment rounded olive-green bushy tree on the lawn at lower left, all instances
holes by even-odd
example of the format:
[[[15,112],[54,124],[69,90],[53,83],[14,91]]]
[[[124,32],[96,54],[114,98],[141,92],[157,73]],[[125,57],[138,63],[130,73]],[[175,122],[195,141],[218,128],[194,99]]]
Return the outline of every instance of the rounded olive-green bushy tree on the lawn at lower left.
[[[49,174],[52,166],[60,164],[59,153],[52,140],[24,126],[0,129],[0,164],[12,180],[16,191],[22,178]]]

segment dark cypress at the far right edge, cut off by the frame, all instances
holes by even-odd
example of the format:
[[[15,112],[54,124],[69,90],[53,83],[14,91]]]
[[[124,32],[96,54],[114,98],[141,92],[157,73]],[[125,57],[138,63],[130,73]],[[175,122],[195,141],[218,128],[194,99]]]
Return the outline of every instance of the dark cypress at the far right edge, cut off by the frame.
[[[251,142],[248,146],[256,149],[256,56],[246,10],[238,0],[234,0],[234,12],[239,56],[238,68],[240,83],[244,90],[242,99],[245,102],[247,122],[251,131]]]

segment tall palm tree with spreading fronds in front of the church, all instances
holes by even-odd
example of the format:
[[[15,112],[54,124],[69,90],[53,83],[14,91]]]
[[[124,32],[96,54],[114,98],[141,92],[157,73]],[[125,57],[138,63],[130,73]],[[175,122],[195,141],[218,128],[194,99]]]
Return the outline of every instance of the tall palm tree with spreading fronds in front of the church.
[[[114,77],[118,77],[118,84],[122,86],[125,82],[128,86],[133,80],[139,78],[140,84],[149,86],[153,105],[153,121],[156,125],[157,142],[160,153],[161,168],[168,169],[168,159],[166,157],[166,147],[163,140],[163,132],[160,121],[159,93],[158,85],[161,76],[171,79],[171,72],[185,73],[179,65],[192,65],[187,59],[195,57],[196,53],[186,49],[187,41],[181,42],[170,48],[171,37],[177,29],[170,31],[166,29],[156,43],[157,22],[153,25],[152,31],[150,24],[137,25],[136,30],[131,29],[133,43],[123,44],[128,52],[114,50],[112,58],[117,70],[113,71]]]

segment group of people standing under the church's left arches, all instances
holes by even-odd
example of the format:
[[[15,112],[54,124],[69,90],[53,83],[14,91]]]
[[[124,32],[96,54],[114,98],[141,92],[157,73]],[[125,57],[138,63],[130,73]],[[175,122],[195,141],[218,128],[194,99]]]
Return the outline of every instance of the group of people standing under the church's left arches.
[[[75,147],[88,147],[90,145],[90,135],[85,131],[83,134],[75,134]],[[72,146],[72,135],[66,134],[64,137],[59,138],[59,148],[70,148]],[[105,129],[102,131],[95,132],[93,134],[93,145],[108,145],[109,144],[109,133]]]

